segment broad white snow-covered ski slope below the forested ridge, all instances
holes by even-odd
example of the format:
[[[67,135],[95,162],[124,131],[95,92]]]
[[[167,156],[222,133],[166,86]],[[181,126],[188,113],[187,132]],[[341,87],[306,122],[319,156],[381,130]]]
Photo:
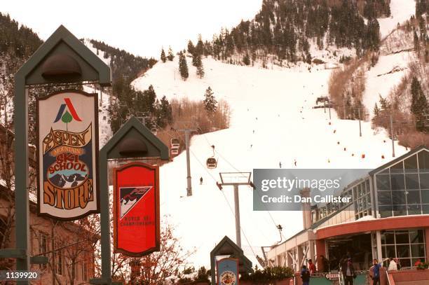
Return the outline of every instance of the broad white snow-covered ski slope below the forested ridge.
[[[333,110],[329,120],[328,111],[312,109],[318,96],[327,95],[330,71],[257,69],[211,58],[203,64],[203,79],[195,76],[188,59],[190,77],[182,81],[175,59],[159,62],[133,82],[142,90],[152,84],[158,97],[170,99],[201,100],[210,86],[217,99],[231,105],[229,129],[191,139],[192,197],[186,197],[185,153],[161,167],[161,213],[170,215],[170,223],[177,225],[182,246],[197,250],[191,258],[196,266],[210,264],[210,250],[224,235],[235,239],[233,193],[228,187],[217,188],[219,172],[278,168],[279,162],[283,168],[374,168],[392,158],[386,133],[374,134],[369,122],[362,122],[359,137],[357,120],[338,120]],[[205,160],[212,155],[212,144],[219,162],[217,169],[209,170]],[[405,153],[400,146],[395,151]],[[200,177],[203,185],[199,185]],[[243,249],[254,264],[254,254],[261,255],[260,246],[279,241],[275,224],[283,226],[285,237],[302,228],[300,212],[252,211],[250,188],[240,188],[240,211]]]

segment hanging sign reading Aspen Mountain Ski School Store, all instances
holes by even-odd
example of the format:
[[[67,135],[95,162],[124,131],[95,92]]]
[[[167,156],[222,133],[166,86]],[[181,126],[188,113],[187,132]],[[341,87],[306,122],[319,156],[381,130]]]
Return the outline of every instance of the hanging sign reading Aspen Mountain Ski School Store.
[[[37,208],[76,220],[100,211],[97,94],[62,90],[36,101]]]

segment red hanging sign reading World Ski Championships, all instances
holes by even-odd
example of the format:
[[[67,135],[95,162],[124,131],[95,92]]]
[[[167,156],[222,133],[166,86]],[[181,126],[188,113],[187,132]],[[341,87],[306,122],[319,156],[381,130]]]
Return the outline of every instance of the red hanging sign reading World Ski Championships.
[[[127,256],[159,250],[159,167],[130,162],[114,169],[114,249]]]

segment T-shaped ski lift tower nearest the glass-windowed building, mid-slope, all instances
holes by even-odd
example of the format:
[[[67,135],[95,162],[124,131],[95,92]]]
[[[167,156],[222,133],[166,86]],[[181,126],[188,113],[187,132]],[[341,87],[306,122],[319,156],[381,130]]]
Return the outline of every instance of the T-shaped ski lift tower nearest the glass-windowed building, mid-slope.
[[[241,248],[241,227],[240,227],[240,197],[238,195],[238,186],[247,185],[254,186],[250,181],[252,172],[221,172],[219,176],[221,183],[218,184],[219,189],[222,186],[233,186],[234,188],[234,214],[236,216],[236,244]]]

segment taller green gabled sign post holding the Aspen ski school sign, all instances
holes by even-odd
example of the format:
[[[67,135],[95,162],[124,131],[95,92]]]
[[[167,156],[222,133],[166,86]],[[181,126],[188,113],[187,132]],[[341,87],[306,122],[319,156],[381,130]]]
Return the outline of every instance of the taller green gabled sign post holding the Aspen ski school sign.
[[[16,270],[30,270],[28,195],[28,92],[43,85],[95,83],[111,86],[111,70],[65,27],[60,26],[15,74],[15,249],[0,250],[0,258],[16,258]],[[109,207],[104,201],[101,207]],[[104,221],[105,222],[105,221]],[[108,223],[108,222],[107,222]],[[18,281],[17,284],[29,284]]]

